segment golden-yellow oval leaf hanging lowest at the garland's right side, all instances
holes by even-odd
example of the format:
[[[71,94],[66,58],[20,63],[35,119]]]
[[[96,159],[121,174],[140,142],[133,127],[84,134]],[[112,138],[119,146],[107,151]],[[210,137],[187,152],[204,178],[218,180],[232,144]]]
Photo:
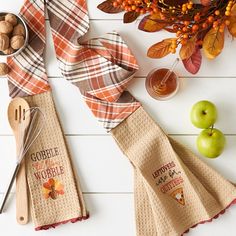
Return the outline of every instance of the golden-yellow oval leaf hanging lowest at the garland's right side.
[[[203,50],[208,59],[217,57],[224,48],[224,32],[218,28],[208,31],[203,40]]]

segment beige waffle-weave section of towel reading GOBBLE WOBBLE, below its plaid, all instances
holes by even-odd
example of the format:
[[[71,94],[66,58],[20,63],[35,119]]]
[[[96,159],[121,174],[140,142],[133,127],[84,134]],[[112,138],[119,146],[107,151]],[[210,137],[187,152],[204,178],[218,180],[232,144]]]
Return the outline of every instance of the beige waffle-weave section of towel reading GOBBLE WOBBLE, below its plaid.
[[[25,97],[45,114],[42,133],[26,155],[27,180],[36,230],[87,219],[80,184],[51,92]]]

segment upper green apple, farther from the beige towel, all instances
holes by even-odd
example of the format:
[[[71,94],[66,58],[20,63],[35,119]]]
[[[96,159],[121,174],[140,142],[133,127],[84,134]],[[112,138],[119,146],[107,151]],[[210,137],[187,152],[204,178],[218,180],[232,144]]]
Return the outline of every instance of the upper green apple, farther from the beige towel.
[[[217,109],[212,102],[200,101],[193,105],[191,121],[200,129],[207,129],[214,125],[217,119]]]

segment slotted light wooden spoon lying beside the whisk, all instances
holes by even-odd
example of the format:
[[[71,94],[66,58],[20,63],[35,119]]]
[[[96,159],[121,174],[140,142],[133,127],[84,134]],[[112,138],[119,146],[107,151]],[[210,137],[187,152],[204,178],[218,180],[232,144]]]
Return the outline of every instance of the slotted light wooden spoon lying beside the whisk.
[[[30,116],[25,117],[29,104],[23,98],[15,98],[8,107],[8,121],[14,132],[16,140],[17,157],[24,142],[24,133],[29,126]],[[23,125],[20,125],[24,122]],[[22,160],[21,167],[16,176],[16,220],[19,224],[28,223],[28,186],[26,180],[25,161]]]

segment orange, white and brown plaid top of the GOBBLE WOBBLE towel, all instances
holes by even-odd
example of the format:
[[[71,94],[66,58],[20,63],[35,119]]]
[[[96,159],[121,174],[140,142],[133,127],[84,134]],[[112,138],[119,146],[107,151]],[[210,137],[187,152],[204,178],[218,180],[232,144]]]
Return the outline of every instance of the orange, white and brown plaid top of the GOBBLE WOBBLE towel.
[[[27,96],[50,90],[43,63],[45,17],[43,1],[25,1],[20,11],[29,29],[29,44],[20,54],[8,58],[10,96]]]

